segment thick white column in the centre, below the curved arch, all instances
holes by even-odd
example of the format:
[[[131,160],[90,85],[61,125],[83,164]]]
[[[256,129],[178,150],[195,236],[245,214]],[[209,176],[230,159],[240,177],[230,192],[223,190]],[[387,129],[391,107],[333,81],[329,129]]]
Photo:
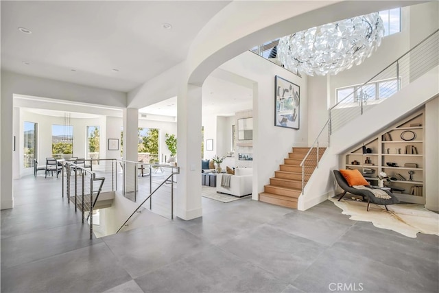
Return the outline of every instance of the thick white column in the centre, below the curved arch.
[[[201,205],[202,88],[185,85],[178,93],[177,158],[180,167],[176,215],[183,220],[202,216]]]

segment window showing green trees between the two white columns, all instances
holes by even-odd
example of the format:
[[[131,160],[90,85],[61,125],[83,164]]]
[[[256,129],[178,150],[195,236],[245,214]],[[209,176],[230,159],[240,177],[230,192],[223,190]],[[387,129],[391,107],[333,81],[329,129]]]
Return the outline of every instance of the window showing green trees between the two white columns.
[[[139,152],[139,161],[145,163],[158,163],[158,129],[157,128],[139,128],[139,140],[137,151]],[[148,153],[142,158],[140,154]]]

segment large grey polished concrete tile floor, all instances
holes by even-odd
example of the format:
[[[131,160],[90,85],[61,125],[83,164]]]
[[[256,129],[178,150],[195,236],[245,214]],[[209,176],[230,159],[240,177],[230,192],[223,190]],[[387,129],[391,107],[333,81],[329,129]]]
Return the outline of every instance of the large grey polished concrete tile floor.
[[[56,178],[15,181],[15,207],[1,211],[1,292],[439,290],[439,237],[348,220],[329,201],[303,212],[202,198],[203,218],[88,239],[60,190]]]

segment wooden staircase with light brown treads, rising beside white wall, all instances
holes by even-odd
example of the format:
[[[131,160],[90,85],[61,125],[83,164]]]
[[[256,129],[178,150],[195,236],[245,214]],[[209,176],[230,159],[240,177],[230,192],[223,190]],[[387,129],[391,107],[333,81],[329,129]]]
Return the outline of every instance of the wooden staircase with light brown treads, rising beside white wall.
[[[321,159],[326,148],[319,148],[319,159]],[[270,184],[264,186],[264,192],[259,194],[261,202],[280,205],[297,209],[298,197],[302,193],[302,167],[300,163],[305,158],[309,148],[293,148],[280,165],[279,171],[274,172],[274,177],[270,178]],[[307,158],[305,168],[305,185],[316,169],[317,150],[313,148]],[[312,160],[313,159],[313,160]]]

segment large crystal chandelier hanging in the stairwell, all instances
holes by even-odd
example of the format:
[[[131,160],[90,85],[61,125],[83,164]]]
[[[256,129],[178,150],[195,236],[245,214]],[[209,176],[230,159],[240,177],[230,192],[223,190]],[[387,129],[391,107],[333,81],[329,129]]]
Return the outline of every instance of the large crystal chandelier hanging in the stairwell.
[[[284,36],[277,54],[290,71],[335,75],[360,65],[379,47],[383,34],[383,21],[375,12]]]

